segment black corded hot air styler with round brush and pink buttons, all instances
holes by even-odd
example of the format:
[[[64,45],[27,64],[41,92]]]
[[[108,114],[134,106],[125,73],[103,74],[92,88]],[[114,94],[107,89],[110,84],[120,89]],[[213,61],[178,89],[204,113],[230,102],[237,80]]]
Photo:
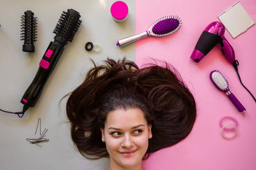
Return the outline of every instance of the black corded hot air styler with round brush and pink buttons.
[[[67,45],[68,41],[71,42],[74,38],[81,24],[81,20],[79,20],[80,17],[79,13],[72,9],[68,9],[67,12],[63,11],[61,14],[60,20],[53,31],[53,33],[56,34],[54,41],[51,41],[49,44],[39,63],[40,67],[38,68],[34,80],[29,85],[20,101],[24,104],[25,111],[29,107],[35,106],[47,79],[60,59],[64,46]]]

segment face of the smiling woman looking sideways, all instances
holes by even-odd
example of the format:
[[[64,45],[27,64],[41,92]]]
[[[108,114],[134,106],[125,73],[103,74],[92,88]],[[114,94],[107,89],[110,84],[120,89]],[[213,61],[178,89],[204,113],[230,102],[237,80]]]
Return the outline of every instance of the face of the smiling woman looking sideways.
[[[110,111],[101,131],[110,166],[141,166],[147,152],[148,138],[152,138],[151,125],[147,124],[143,111],[139,108]]]

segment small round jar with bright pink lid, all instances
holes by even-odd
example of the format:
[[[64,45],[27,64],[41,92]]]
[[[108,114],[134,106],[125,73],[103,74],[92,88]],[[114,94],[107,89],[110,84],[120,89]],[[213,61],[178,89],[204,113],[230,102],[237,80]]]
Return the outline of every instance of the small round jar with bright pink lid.
[[[123,1],[116,1],[111,6],[111,15],[117,22],[122,22],[128,17],[128,6]]]

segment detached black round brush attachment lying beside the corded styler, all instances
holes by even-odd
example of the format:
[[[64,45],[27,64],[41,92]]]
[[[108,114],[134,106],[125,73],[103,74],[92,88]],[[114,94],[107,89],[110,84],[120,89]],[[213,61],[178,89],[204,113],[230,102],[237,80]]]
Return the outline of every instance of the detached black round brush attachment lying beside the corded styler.
[[[20,40],[24,40],[22,46],[23,52],[35,52],[34,42],[36,41],[37,23],[36,17],[32,11],[25,11],[21,17],[21,36]]]

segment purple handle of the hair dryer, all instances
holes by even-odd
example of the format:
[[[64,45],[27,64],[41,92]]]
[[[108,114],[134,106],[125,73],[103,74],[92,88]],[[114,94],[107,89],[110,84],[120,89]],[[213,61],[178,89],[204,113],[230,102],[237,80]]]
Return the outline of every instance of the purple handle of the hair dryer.
[[[230,43],[228,43],[227,39],[222,36],[222,43],[221,43],[221,51],[223,52],[225,58],[230,62],[230,64],[233,64],[235,59],[235,52]]]

